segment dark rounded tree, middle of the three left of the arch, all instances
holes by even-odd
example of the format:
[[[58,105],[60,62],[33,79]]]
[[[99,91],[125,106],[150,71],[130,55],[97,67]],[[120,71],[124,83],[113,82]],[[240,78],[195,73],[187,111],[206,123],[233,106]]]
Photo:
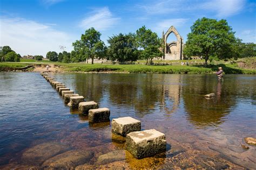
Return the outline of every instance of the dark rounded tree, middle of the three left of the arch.
[[[137,60],[138,51],[134,34],[119,33],[116,36],[110,37],[107,42],[110,44],[107,54],[112,61],[125,62]]]

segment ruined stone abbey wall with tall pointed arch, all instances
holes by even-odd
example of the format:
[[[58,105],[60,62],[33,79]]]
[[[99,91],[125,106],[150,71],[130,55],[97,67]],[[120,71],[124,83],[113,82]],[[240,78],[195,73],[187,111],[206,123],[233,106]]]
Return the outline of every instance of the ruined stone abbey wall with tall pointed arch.
[[[177,41],[167,42],[167,38],[169,35],[173,33],[176,36]],[[164,40],[164,59],[165,60],[183,60],[183,38],[180,36],[179,32],[176,30],[174,26],[171,26],[169,30],[164,34],[163,32],[163,40]]]

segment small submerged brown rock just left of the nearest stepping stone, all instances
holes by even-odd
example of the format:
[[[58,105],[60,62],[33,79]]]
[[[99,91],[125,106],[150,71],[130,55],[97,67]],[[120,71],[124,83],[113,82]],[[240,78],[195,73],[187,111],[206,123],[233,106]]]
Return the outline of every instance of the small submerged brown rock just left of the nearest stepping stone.
[[[125,151],[113,151],[100,155],[96,165],[109,164],[110,162],[125,160]]]

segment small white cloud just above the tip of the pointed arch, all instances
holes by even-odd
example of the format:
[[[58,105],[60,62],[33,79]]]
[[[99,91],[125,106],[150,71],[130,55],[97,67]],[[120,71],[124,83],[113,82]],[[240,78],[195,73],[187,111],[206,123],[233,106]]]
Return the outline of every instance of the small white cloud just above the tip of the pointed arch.
[[[174,27],[180,27],[183,26],[188,19],[186,18],[176,18],[176,19],[164,19],[161,20],[159,23],[157,23],[156,26],[156,31],[167,31],[169,29],[170,26],[174,26]]]

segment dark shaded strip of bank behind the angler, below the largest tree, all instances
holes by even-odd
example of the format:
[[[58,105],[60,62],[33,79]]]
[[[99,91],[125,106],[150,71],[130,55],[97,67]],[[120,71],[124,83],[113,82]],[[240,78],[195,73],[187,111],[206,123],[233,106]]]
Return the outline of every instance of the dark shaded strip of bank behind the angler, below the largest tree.
[[[207,65],[206,67],[204,65],[200,66],[193,66],[193,67],[199,67],[199,68],[211,68],[212,71],[217,72],[219,67],[223,68],[224,73],[226,74],[244,74],[244,72],[241,69],[237,68],[232,68],[232,67],[227,67],[224,64],[219,64],[219,65]]]

